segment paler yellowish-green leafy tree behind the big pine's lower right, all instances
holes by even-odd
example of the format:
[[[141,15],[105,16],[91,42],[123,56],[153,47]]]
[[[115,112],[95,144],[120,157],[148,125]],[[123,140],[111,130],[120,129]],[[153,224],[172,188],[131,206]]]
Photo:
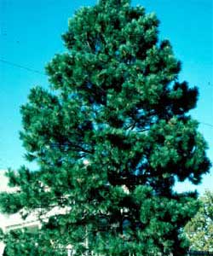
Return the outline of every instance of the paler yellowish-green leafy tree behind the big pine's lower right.
[[[185,232],[193,250],[213,252],[213,192],[200,199],[199,212],[187,223]]]

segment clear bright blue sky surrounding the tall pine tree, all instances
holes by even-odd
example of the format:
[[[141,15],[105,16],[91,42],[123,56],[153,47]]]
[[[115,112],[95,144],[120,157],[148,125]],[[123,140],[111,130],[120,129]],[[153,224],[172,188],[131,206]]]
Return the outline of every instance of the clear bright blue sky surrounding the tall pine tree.
[[[33,85],[48,86],[43,67],[63,52],[60,35],[80,6],[95,0],[0,0],[0,169],[26,164],[19,139],[20,105]],[[180,80],[199,86],[198,107],[191,113],[213,161],[213,1],[135,0],[160,20],[159,37],[170,39],[181,60]],[[14,64],[13,64],[14,63]],[[21,66],[26,68],[21,68]],[[27,69],[28,68],[28,69]],[[1,182],[1,181],[0,181]],[[213,169],[199,185],[200,193],[213,188]],[[193,189],[189,183],[176,189]]]

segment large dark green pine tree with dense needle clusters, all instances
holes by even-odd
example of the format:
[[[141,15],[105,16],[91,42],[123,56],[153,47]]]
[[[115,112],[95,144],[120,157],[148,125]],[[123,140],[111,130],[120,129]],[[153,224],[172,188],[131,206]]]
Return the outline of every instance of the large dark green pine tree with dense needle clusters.
[[[65,209],[38,234],[4,236],[9,256],[183,255],[182,228],[198,210],[198,184],[208,172],[206,143],[188,111],[197,88],[179,82],[180,62],[158,19],[129,0],[100,0],[69,20],[67,51],[47,67],[51,90],[33,88],[21,108],[21,140],[37,170],[9,172],[16,194],[3,212]],[[13,243],[13,244],[12,244]],[[37,246],[36,246],[37,245]]]

